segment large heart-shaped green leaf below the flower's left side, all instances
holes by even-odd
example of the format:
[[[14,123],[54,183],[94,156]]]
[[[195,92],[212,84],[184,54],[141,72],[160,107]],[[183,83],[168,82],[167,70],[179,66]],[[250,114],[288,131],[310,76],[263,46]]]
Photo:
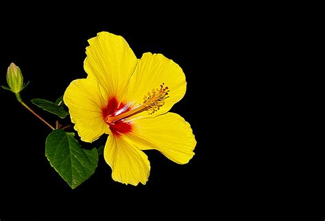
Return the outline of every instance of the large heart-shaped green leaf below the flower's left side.
[[[73,189],[91,177],[97,168],[97,149],[83,149],[75,140],[74,133],[62,129],[52,131],[47,136],[45,155],[51,166]]]

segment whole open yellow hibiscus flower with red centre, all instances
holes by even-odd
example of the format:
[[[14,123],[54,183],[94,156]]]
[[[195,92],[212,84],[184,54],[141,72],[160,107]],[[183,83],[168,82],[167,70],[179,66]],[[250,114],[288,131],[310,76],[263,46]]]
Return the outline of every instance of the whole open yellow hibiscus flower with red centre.
[[[150,164],[144,150],[186,164],[195,137],[184,118],[168,112],[186,91],[182,68],[161,54],[137,59],[123,37],[108,32],[88,42],[88,77],[72,81],[63,99],[81,140],[93,142],[108,133],[104,158],[112,179],[145,184]]]

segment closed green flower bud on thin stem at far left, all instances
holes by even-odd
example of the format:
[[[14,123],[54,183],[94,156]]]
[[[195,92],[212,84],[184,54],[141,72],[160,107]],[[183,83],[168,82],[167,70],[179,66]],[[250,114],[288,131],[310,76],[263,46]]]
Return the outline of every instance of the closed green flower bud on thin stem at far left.
[[[10,90],[16,94],[23,90],[23,75],[21,69],[16,64],[11,63],[7,71],[7,82]]]

